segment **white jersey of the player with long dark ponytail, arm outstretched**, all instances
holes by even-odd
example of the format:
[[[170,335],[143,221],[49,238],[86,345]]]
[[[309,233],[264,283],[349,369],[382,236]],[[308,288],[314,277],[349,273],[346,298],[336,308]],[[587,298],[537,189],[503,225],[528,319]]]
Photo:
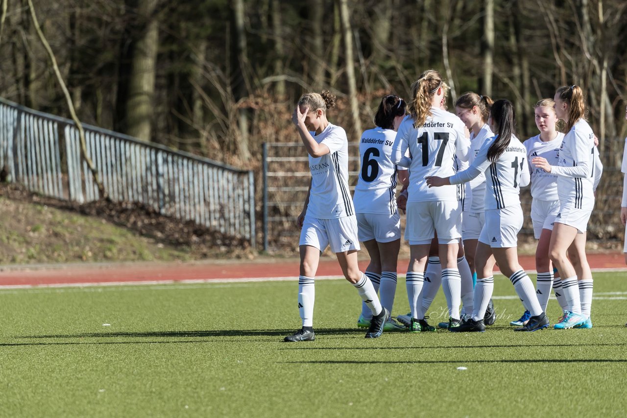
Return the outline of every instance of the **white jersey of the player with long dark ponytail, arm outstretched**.
[[[483,142],[470,167],[450,178],[451,184],[460,184],[485,172],[485,210],[520,205],[520,187],[529,184],[527,150],[513,135],[503,154],[493,163],[488,160],[488,150],[496,138]]]

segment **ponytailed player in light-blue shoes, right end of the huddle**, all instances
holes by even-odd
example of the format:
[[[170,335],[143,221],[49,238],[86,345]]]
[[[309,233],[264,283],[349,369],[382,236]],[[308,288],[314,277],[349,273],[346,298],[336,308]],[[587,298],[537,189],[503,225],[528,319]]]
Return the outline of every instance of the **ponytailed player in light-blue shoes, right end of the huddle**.
[[[562,278],[562,292],[568,303],[568,313],[554,328],[591,327],[590,305],[593,280],[580,277],[567,257],[567,250],[584,234],[594,207],[594,133],[584,116],[586,106],[579,86],[562,86],[555,97],[557,117],[566,122],[566,135],[559,150],[557,165],[543,157],[534,157],[531,164],[557,175],[560,208],[553,224],[549,257]],[[585,253],[581,263],[587,265]],[[581,287],[581,295],[580,295]],[[589,323],[589,324],[588,324]],[[589,325],[589,327],[587,326]]]

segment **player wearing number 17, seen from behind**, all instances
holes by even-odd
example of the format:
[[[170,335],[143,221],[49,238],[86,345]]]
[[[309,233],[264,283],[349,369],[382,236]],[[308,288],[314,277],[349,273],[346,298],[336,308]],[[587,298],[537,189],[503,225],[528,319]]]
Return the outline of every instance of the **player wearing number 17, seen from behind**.
[[[410,259],[406,287],[411,308],[410,331],[433,330],[424,320],[419,296],[423,288],[424,267],[435,233],[440,244],[442,287],[450,313],[450,323],[460,321],[460,273],[457,268],[458,239],[461,238],[461,206],[455,186],[429,189],[427,175],[452,175],[455,156],[468,160],[470,144],[463,122],[441,110],[445,89],[435,70],[427,70],[411,86],[413,102],[409,116],[398,129],[393,147],[393,162],[409,167],[409,197],[405,239],[409,241]],[[411,158],[406,157],[409,149]]]

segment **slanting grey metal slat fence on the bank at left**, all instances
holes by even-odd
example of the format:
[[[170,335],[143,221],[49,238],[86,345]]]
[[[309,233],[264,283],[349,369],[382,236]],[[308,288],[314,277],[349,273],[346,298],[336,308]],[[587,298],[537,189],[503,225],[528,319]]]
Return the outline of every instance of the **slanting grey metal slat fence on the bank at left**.
[[[253,172],[83,125],[107,196],[194,221],[255,247]],[[0,98],[0,167],[29,191],[80,203],[100,198],[72,120]]]

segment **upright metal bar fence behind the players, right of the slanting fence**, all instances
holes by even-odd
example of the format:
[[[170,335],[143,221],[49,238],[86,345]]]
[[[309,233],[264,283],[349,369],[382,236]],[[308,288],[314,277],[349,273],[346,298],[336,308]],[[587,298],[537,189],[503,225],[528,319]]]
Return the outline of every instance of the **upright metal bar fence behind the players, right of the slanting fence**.
[[[607,149],[623,150],[623,138],[606,138]],[[349,142],[349,182],[354,190],[359,174],[359,144]],[[588,224],[588,241],[608,243],[623,239],[620,224],[623,175],[620,172],[622,154],[604,152],[603,177],[596,192],[596,205]],[[298,246],[300,231],[295,225],[302,211],[310,181],[307,152],[301,142],[263,144],[263,248]],[[520,231],[523,238],[533,239],[530,218],[529,187],[520,191],[525,222]],[[404,217],[401,217],[404,222]],[[401,226],[403,226],[402,224]]]

